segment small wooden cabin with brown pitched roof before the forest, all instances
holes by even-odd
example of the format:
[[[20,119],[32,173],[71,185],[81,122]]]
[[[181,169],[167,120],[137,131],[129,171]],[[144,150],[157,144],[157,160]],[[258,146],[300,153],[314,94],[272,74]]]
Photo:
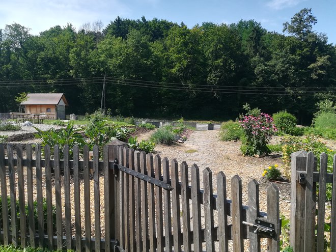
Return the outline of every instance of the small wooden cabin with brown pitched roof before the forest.
[[[65,107],[68,102],[63,93],[27,94],[27,100],[21,102],[25,113],[46,114],[49,119],[65,119]]]

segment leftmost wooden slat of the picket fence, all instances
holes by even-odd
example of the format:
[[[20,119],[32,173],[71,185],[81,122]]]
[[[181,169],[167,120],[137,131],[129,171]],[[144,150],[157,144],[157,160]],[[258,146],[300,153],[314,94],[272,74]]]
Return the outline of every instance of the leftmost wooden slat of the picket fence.
[[[28,149],[27,149],[27,156],[28,156]],[[5,147],[4,147],[4,144],[0,144],[0,180],[1,180],[1,198],[3,199],[2,209],[3,209],[4,244],[8,245],[9,244],[9,214],[8,214],[8,205],[7,205],[6,166],[5,166],[4,161],[5,161]]]

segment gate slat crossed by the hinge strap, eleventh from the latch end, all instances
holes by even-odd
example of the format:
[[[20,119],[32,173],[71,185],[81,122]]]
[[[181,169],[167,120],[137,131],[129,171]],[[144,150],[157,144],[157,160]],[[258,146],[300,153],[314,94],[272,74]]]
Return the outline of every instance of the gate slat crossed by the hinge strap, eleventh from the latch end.
[[[147,154],[147,171],[148,176],[154,178],[154,160],[153,154]],[[154,185],[148,184],[148,219],[149,219],[149,244],[150,250],[156,251],[156,234],[155,234],[155,193]]]

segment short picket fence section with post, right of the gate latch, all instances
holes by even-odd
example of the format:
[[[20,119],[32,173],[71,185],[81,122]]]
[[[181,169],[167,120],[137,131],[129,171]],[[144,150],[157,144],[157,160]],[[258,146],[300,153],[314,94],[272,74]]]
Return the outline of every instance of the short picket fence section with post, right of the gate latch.
[[[333,157],[333,173],[327,173],[327,160],[327,155],[322,153],[317,172],[317,158],[313,152],[292,153],[290,244],[294,251],[324,251],[326,248],[324,228],[327,183],[332,183],[331,214],[330,220],[327,220],[330,221],[328,239],[330,251],[336,251],[336,155]]]

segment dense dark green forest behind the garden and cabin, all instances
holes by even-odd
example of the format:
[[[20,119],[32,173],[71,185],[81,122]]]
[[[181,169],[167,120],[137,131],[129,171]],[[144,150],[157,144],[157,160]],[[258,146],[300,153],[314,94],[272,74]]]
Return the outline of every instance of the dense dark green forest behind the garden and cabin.
[[[242,105],[287,109],[309,124],[315,103],[336,100],[336,47],[314,32],[303,9],[286,35],[254,20],[189,29],[154,18],[117,17],[76,31],[54,26],[34,36],[13,23],[0,30],[0,112],[16,111],[19,93],[65,93],[67,114],[100,107],[113,115],[234,119]]]

